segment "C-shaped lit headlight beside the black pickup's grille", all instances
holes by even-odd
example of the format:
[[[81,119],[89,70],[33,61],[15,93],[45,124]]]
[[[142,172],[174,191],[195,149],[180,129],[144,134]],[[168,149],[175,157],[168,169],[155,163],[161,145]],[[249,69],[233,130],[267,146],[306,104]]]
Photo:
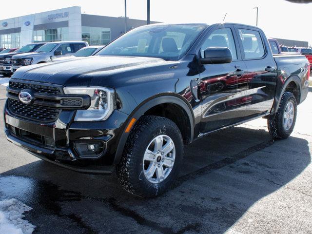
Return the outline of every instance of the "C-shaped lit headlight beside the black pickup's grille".
[[[65,87],[65,94],[89,95],[91,105],[78,110],[75,121],[100,121],[107,119],[115,109],[115,91],[104,87]]]

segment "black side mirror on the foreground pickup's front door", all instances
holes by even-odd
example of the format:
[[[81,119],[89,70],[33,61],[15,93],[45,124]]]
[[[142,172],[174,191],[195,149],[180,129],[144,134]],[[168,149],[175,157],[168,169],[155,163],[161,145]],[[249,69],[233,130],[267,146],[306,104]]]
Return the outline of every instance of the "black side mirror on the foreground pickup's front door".
[[[200,59],[201,64],[220,64],[232,62],[232,53],[227,47],[208,47],[204,51],[205,58]]]

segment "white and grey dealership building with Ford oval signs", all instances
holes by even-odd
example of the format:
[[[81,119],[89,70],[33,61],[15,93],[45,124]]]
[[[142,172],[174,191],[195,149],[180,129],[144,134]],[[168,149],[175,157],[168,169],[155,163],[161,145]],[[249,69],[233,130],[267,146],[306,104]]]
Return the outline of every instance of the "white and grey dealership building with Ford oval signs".
[[[127,31],[145,24],[146,20],[127,18]],[[0,47],[14,48],[32,42],[64,40],[84,40],[90,45],[105,45],[124,31],[124,17],[81,14],[81,8],[73,6],[0,20]]]

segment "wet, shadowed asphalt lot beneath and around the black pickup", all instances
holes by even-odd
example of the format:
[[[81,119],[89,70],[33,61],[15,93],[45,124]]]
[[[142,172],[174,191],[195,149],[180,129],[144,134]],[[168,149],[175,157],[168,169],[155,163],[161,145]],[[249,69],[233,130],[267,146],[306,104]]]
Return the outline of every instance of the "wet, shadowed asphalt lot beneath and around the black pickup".
[[[4,102],[0,86],[1,111]],[[173,188],[153,199],[129,195],[114,175],[39,160],[3,131],[0,149],[0,200],[32,207],[34,234],[312,233],[312,88],[291,137],[272,141],[265,119],[203,137],[185,147]]]

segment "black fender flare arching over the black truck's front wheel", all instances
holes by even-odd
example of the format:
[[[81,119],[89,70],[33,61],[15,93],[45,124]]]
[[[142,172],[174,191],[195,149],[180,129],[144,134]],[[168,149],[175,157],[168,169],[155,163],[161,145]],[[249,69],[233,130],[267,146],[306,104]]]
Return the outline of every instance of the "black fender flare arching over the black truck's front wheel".
[[[153,108],[159,107],[161,105],[166,105],[166,104],[175,105],[176,108],[179,108],[178,109],[179,111],[184,112],[184,114],[187,117],[187,121],[188,121],[187,124],[188,124],[188,128],[189,128],[189,132],[184,133],[184,134],[188,134],[188,136],[186,137],[186,139],[187,139],[186,143],[190,143],[193,141],[195,117],[194,117],[193,109],[192,109],[190,103],[187,100],[184,100],[179,95],[174,94],[174,93],[156,95],[156,96],[153,96],[153,97],[141,102],[137,106],[137,108],[129,115],[129,117],[126,121],[126,124],[124,125],[124,129],[122,130],[121,136],[119,138],[119,143],[117,146],[116,155],[115,155],[115,159],[114,159],[115,165],[117,165],[121,159],[124,146],[126,144],[128,136],[131,132],[131,131],[129,131],[128,133],[125,132],[125,129],[129,125],[130,121],[133,118],[136,118],[136,122],[137,122],[139,120],[139,118],[144,116],[146,113],[151,113],[149,111],[153,110]],[[177,110],[177,109],[175,109],[175,110]],[[157,116],[162,116],[162,115],[157,115]],[[177,124],[177,125],[179,125],[179,124]],[[182,131],[181,131],[181,133],[182,133]],[[182,135],[183,135],[183,133],[182,133]],[[185,135],[184,135],[184,137],[185,137]]]

